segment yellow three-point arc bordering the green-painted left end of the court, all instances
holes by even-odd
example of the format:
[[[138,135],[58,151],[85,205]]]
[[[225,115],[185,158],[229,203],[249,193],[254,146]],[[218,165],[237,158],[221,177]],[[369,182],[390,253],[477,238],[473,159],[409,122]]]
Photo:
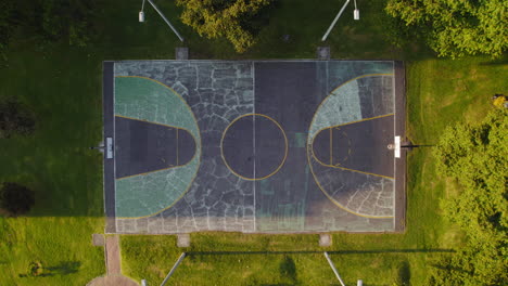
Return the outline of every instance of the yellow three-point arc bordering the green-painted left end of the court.
[[[175,93],[175,94],[183,102],[183,105],[189,109],[190,114],[192,115],[192,118],[194,119],[195,127],[198,128],[198,136],[199,136],[199,139],[200,139],[200,140],[199,140],[199,143],[200,143],[199,145],[198,145],[198,141],[195,140],[195,138],[194,138],[194,135],[192,134],[192,132],[189,132],[189,130],[187,130],[187,131],[191,134],[191,136],[194,139],[194,143],[196,144],[196,145],[195,145],[194,156],[192,156],[192,158],[191,158],[186,165],[178,166],[178,167],[185,167],[185,166],[189,165],[192,160],[194,160],[195,156],[198,155],[198,152],[200,153],[200,156],[198,157],[198,168],[195,169],[194,176],[192,177],[192,179],[191,179],[189,185],[187,186],[186,191],[185,191],[183,193],[181,193],[181,195],[180,195],[177,199],[175,199],[175,200],[173,202],[173,204],[170,204],[170,205],[167,206],[166,208],[164,208],[164,209],[162,209],[162,210],[160,210],[160,211],[156,211],[156,212],[154,212],[154,213],[152,213],[152,214],[142,216],[142,217],[116,217],[116,218],[118,218],[118,219],[142,219],[142,218],[149,218],[149,217],[156,216],[156,214],[158,214],[158,213],[161,213],[161,212],[163,212],[163,211],[165,211],[165,210],[172,208],[173,206],[175,206],[175,204],[178,203],[178,202],[183,197],[183,195],[186,195],[186,194],[189,192],[190,187],[192,186],[192,183],[194,182],[195,177],[198,176],[198,171],[199,171],[200,166],[201,166],[201,143],[202,143],[202,142],[201,142],[201,130],[200,130],[200,126],[198,125],[198,120],[195,119],[194,113],[192,112],[192,109],[190,108],[190,106],[187,104],[186,100],[183,100],[183,98],[182,98],[178,92],[176,92],[174,89],[172,89],[170,87],[168,87],[168,86],[162,83],[161,81],[157,81],[157,80],[155,80],[155,79],[151,79],[151,78],[148,78],[148,77],[140,77],[140,76],[116,76],[116,77],[117,77],[117,78],[141,78],[141,79],[148,79],[148,80],[151,80],[151,81],[153,81],[153,82],[155,82],[155,83],[158,83],[158,84],[161,84],[161,86],[167,88],[168,90],[170,90],[173,93]],[[183,129],[183,128],[181,128],[181,129]],[[186,129],[183,129],[183,130],[186,130]],[[116,204],[115,204],[115,208],[116,208]]]

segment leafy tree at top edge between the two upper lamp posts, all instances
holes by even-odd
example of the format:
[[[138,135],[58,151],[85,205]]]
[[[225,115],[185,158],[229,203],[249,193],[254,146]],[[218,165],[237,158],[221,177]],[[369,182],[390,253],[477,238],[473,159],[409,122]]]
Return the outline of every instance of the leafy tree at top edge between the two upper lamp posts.
[[[208,39],[226,37],[242,53],[255,43],[256,20],[272,0],[177,0],[181,21]]]

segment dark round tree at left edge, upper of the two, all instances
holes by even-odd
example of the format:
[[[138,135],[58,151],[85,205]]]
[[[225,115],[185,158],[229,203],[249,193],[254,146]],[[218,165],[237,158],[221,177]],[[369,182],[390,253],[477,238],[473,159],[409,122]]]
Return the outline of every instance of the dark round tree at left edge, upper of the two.
[[[28,135],[34,129],[34,116],[17,101],[0,103],[0,139],[13,134]]]

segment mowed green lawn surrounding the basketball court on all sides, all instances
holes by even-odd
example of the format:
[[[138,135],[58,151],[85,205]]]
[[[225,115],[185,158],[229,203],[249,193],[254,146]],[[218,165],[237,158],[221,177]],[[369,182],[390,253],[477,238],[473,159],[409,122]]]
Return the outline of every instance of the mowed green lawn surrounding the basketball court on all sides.
[[[415,143],[435,143],[454,121],[482,118],[491,108],[490,98],[507,93],[506,61],[436,60],[418,44],[392,48],[383,34],[384,3],[360,6],[359,22],[344,14],[326,44],[335,58],[408,61],[408,132]],[[0,285],[85,285],[105,271],[103,249],[91,245],[91,234],[103,232],[104,225],[101,155],[88,150],[102,138],[102,61],[174,58],[179,46],[189,47],[192,58],[313,58],[341,5],[281,0],[270,10],[259,42],[239,55],[227,41],[201,38],[181,24],[172,1],[157,5],[186,37],[185,44],[150,8],[147,23],[138,23],[139,4],[115,0],[101,5],[98,38],[87,48],[20,39],[5,53],[0,100],[15,96],[29,106],[37,131],[0,140],[0,181],[30,186],[36,206],[23,218],[0,217]],[[282,40],[284,35],[289,41]],[[172,285],[339,285],[320,253],[328,250],[335,251],[331,257],[347,285],[357,278],[364,285],[424,285],[432,258],[460,243],[440,208],[440,199],[455,186],[434,172],[430,148],[414,151],[408,162],[405,234],[335,233],[327,249],[318,247],[318,235],[192,234],[189,249],[177,248],[175,236],[122,236],[124,273],[157,285],[183,250],[256,251],[192,255]],[[30,262],[41,262],[47,275],[21,277]]]

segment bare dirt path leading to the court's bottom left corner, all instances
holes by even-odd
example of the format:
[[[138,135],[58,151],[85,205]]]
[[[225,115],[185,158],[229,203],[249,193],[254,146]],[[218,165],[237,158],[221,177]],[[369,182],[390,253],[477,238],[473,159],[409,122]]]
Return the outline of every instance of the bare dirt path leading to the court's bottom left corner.
[[[106,275],[92,280],[87,286],[139,286],[136,282],[122,275],[122,258],[117,235],[105,239]]]

